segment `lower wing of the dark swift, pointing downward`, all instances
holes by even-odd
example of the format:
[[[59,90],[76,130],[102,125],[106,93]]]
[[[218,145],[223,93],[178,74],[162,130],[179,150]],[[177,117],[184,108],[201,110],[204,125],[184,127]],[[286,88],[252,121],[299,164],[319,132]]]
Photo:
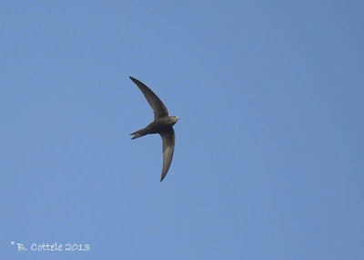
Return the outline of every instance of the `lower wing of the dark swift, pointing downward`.
[[[162,175],[160,176],[160,181],[163,181],[172,162],[173,151],[175,150],[176,135],[175,130],[173,130],[172,127],[170,127],[170,129],[165,132],[159,133],[159,135],[162,137],[163,141],[163,169]]]

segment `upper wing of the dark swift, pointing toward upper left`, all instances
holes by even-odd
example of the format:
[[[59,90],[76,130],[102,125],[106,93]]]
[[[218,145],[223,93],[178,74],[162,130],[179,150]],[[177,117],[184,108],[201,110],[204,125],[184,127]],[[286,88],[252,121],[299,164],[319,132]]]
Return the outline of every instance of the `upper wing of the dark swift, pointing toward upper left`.
[[[137,87],[141,90],[143,95],[146,97],[147,102],[153,109],[154,119],[159,119],[168,115],[167,107],[163,104],[163,102],[157,97],[156,94],[151,91],[147,85],[144,85],[142,82],[138,81],[136,78],[129,76],[130,79],[137,85]]]

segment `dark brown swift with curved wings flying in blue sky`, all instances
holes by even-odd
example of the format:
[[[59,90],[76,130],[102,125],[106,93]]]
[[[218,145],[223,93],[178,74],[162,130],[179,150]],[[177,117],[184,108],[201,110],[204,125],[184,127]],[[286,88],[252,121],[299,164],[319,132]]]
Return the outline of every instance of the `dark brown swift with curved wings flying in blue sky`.
[[[159,134],[162,137],[163,143],[163,167],[160,181],[162,182],[167,175],[169,166],[171,165],[173,153],[175,150],[176,135],[173,125],[175,125],[179,119],[178,116],[168,115],[167,107],[163,102],[151,91],[147,85],[143,84],[136,78],[129,76],[130,79],[136,84],[143,95],[147,99],[147,103],[153,109],[154,121],[146,127],[137,130],[130,134],[134,135],[133,139],[142,137],[144,135]]]

